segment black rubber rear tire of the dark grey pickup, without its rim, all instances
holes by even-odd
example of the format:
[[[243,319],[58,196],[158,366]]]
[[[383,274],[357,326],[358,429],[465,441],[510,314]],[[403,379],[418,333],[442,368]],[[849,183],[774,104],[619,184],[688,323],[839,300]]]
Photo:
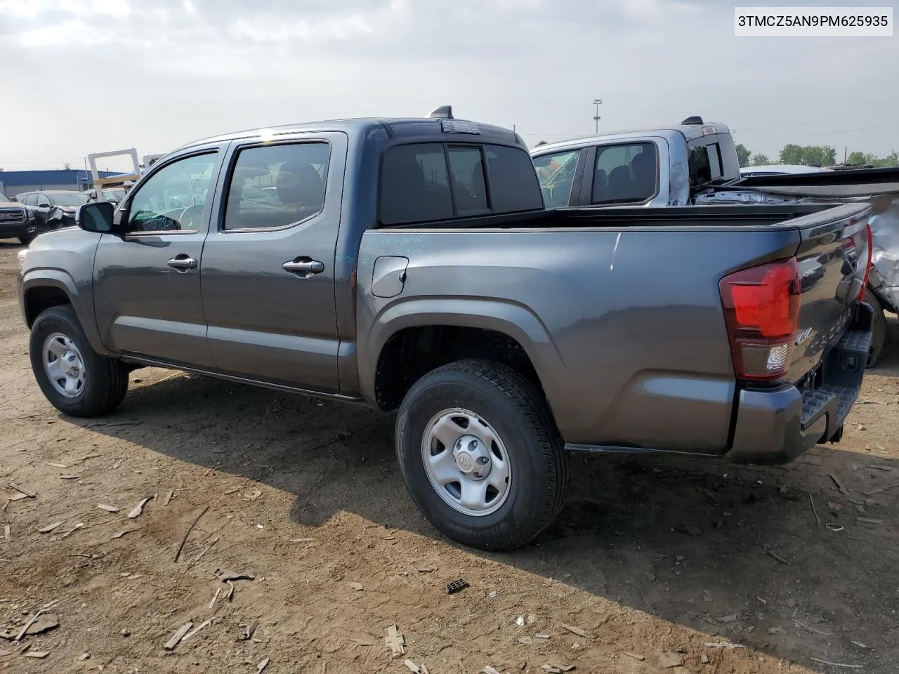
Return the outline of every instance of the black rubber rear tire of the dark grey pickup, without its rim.
[[[426,427],[451,408],[474,412],[503,440],[512,477],[508,496],[490,514],[454,509],[425,472]],[[459,360],[419,379],[396,417],[396,457],[406,488],[432,525],[481,550],[511,551],[526,545],[556,518],[568,493],[568,458],[543,396],[517,372],[492,361]]]

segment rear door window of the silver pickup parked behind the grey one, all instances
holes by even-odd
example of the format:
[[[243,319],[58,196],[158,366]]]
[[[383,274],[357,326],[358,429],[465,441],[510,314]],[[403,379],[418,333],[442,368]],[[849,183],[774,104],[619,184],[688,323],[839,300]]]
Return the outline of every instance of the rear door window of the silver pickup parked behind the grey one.
[[[654,143],[596,148],[592,203],[640,203],[657,192],[659,160]]]

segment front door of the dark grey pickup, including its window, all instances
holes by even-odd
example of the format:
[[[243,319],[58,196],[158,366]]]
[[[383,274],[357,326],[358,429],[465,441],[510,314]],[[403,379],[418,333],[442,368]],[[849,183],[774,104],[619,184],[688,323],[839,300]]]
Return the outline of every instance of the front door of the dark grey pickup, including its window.
[[[154,166],[117,213],[126,221],[124,234],[102,235],[93,297],[107,348],[213,368],[200,301],[200,259],[223,154],[223,147],[209,146]]]

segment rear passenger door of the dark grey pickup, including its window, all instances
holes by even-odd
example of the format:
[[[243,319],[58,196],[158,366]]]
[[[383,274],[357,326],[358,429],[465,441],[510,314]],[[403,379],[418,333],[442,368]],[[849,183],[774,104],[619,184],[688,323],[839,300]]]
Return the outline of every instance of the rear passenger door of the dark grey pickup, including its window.
[[[231,376],[336,393],[343,134],[233,146],[201,265],[209,351]]]

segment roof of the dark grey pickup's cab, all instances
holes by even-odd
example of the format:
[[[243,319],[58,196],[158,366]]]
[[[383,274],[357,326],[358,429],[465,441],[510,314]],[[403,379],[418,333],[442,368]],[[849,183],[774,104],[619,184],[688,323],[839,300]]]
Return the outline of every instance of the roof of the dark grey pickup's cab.
[[[475,124],[480,131],[478,135],[466,134],[464,131],[457,131],[457,140],[468,138],[476,140],[480,143],[501,143],[503,145],[517,145],[527,147],[525,142],[517,133],[503,127],[496,127],[491,124],[482,124],[480,122],[472,122],[469,120],[442,119],[442,118],[355,118],[348,120],[323,120],[310,121],[298,124],[284,124],[275,127],[260,127],[258,129],[245,129],[243,131],[235,131],[232,133],[222,134],[220,136],[212,136],[195,140],[180,147],[174,151],[180,151],[192,146],[205,145],[207,143],[217,143],[227,140],[238,140],[241,138],[252,137],[278,137],[286,136],[293,133],[322,133],[325,131],[344,131],[348,134],[362,134],[369,129],[379,128],[387,130],[390,137],[423,137],[423,136],[440,136],[443,132],[443,123],[451,123],[455,125]],[[450,136],[451,138],[452,136]]]

